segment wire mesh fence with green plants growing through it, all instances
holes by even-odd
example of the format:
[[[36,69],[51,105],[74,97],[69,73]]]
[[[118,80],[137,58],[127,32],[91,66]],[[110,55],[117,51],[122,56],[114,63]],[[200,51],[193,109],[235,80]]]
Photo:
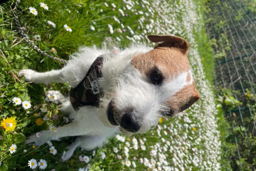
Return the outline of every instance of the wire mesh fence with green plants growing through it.
[[[256,92],[256,17],[255,11],[250,9],[251,3],[256,2],[210,0],[206,4],[209,9],[206,11],[208,22],[205,25],[208,35],[215,40],[212,47],[217,54],[214,73],[217,92],[220,94],[223,88],[232,89],[234,97],[242,102],[237,108],[226,111],[225,117],[232,126],[230,132],[236,126],[242,126],[246,128],[243,130],[245,137],[256,135],[255,120],[248,119],[255,113],[246,105],[248,99],[245,98],[247,89],[253,96]],[[234,170],[243,170],[236,160],[243,156],[244,151],[241,150],[246,148],[244,140],[238,134],[228,138],[230,143],[236,145],[237,155],[227,159]],[[255,170],[255,167],[252,164],[250,169]]]

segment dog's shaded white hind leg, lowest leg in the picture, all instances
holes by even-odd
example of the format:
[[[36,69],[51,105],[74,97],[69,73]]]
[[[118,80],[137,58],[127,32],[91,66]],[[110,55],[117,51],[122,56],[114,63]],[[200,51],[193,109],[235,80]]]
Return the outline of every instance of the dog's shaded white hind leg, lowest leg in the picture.
[[[84,135],[76,138],[75,142],[68,146],[69,150],[63,152],[61,159],[68,160],[74,153],[75,149],[80,146],[86,150],[92,150],[101,147],[107,141],[106,135]]]

